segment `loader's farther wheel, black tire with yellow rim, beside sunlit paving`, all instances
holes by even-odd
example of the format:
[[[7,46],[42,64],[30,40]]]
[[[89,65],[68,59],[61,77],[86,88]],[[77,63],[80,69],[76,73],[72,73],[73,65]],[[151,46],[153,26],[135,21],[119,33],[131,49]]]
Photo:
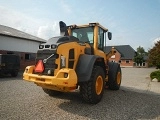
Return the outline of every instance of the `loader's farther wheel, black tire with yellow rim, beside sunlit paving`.
[[[118,63],[109,63],[108,71],[108,87],[111,90],[119,90],[121,85],[122,73]]]

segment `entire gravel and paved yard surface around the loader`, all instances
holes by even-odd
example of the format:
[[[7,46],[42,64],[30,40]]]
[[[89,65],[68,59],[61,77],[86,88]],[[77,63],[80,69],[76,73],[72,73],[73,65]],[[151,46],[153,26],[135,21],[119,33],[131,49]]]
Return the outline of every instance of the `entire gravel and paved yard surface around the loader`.
[[[40,87],[17,78],[0,78],[0,120],[160,120],[160,83],[151,82],[151,68],[122,68],[120,90],[105,90],[96,105],[79,93],[50,97]],[[154,86],[158,86],[155,87]]]

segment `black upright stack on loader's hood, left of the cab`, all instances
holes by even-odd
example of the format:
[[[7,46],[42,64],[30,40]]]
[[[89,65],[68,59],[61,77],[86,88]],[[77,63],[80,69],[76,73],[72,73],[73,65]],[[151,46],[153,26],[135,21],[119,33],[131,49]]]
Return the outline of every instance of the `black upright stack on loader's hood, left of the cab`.
[[[59,22],[59,27],[60,27],[60,35],[61,36],[68,36],[68,30],[67,30],[67,26],[63,21]]]

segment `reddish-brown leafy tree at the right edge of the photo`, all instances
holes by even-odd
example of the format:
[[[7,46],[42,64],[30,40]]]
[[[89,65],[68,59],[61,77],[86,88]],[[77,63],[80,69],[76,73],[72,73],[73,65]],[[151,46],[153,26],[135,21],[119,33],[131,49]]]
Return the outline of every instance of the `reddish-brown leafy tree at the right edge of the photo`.
[[[160,69],[160,40],[155,43],[152,49],[148,51],[149,65]]]

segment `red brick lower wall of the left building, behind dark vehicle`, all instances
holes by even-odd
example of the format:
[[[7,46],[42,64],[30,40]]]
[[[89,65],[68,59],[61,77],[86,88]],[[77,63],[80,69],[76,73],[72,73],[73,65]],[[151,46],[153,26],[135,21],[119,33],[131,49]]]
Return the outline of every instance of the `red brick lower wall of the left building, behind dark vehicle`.
[[[0,54],[8,54],[8,53],[13,53],[13,54],[19,55],[19,57],[20,57],[20,70],[22,70],[22,71],[27,66],[35,64],[35,56],[36,56],[35,53],[24,53],[24,52],[0,50]],[[25,59],[25,54],[31,54],[33,57],[31,59]]]

